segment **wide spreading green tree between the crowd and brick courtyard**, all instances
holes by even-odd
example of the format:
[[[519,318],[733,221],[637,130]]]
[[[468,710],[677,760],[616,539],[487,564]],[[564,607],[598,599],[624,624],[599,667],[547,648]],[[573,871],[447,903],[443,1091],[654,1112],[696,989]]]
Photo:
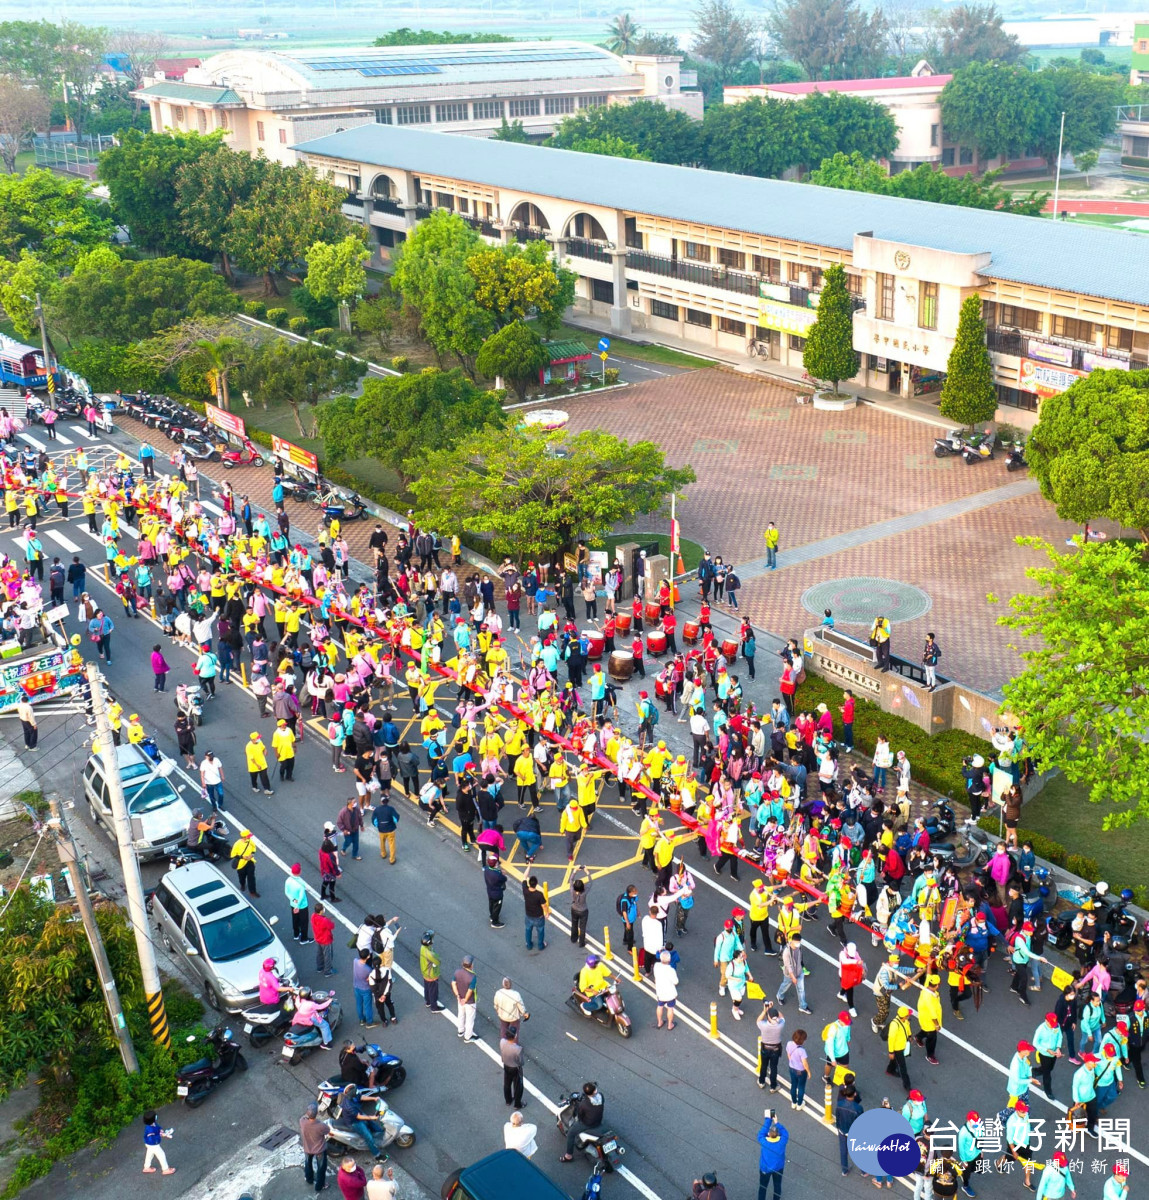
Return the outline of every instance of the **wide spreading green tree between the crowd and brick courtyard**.
[[[580,535],[597,542],[693,481],[654,442],[522,427],[480,430],[451,450],[427,451],[410,490],[425,528],[486,535],[495,554],[537,558]]]

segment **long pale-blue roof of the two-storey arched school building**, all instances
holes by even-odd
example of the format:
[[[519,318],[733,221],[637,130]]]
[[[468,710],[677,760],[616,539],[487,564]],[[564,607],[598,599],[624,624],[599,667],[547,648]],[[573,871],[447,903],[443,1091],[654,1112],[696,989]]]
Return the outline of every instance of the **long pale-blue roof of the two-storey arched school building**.
[[[988,251],[993,278],[1149,305],[1149,238],[1101,226],[386,125],[295,149],[840,250],[868,232],[955,253]]]

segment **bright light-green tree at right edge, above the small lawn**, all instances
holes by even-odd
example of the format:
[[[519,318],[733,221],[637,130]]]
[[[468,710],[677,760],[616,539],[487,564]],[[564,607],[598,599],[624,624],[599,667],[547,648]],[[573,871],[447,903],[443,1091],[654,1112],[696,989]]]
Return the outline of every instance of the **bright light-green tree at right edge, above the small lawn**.
[[[1117,373],[1117,372],[1109,372]],[[1057,553],[1018,539],[1048,564],[1039,590],[1010,600],[1000,624],[1019,634],[1024,670],[1005,685],[1029,752],[1105,804],[1105,828],[1149,817],[1149,566],[1142,547],[1081,545]],[[1112,808],[1111,808],[1112,806]]]

